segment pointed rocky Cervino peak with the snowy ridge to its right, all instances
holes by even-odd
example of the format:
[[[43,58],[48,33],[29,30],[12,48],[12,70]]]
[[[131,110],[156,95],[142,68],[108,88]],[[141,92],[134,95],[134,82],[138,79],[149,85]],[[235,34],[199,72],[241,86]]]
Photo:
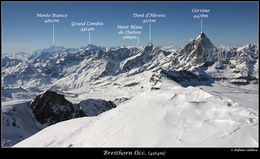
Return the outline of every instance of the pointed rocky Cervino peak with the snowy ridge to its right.
[[[258,42],[223,50],[215,47],[203,32],[175,57],[171,69],[204,70],[215,80],[237,85],[258,84]]]

